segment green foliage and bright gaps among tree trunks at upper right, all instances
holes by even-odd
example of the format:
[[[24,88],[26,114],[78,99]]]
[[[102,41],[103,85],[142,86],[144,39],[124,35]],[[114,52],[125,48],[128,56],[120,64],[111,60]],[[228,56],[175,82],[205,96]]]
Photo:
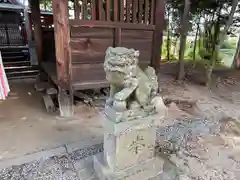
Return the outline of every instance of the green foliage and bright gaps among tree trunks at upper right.
[[[240,27],[240,3],[237,0],[191,0],[188,18],[182,19],[184,15],[184,2],[186,0],[168,0],[166,11],[168,11],[168,38],[170,34],[170,48],[163,51],[171,51],[163,54],[174,54],[172,49],[178,49],[172,39],[179,39],[183,35],[190,35],[194,42],[187,41],[184,49],[178,49],[185,59],[204,61],[207,64],[207,76],[210,78],[215,65],[222,64],[223,55],[220,49],[234,49],[235,42],[224,41],[226,35],[236,36]],[[236,5],[238,8],[236,8]],[[169,15],[170,13],[170,15]],[[184,20],[189,21],[189,27],[182,29]],[[181,22],[182,21],[182,22]],[[182,44],[181,44],[182,45]],[[172,48],[174,46],[174,48]],[[178,51],[177,50],[177,51]],[[181,58],[180,58],[181,59]],[[182,62],[180,62],[181,64]],[[182,69],[182,66],[180,66]]]

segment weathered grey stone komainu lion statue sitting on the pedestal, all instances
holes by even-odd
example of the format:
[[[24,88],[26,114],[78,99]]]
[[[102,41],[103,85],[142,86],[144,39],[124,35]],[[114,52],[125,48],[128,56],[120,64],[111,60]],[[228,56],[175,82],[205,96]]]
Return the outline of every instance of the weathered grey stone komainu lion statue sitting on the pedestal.
[[[144,112],[146,116],[165,107],[158,94],[158,81],[152,67],[144,71],[138,66],[139,51],[123,47],[109,47],[104,70],[110,83],[110,97],[106,105],[116,112]]]

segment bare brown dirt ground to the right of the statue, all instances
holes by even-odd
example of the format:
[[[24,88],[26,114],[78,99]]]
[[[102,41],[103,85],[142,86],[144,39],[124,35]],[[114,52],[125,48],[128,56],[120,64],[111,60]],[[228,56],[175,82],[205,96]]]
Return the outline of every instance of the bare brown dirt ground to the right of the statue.
[[[239,77],[237,71],[218,74],[216,86],[209,90],[193,80],[178,83],[171,76],[161,76],[160,87],[164,99],[175,102],[169,105],[167,121],[176,117],[207,119],[203,121],[204,126],[197,125],[201,131],[206,130],[204,135],[194,136],[193,131],[199,129],[193,130],[191,127],[187,130],[188,135],[183,137],[185,142],[181,147],[173,153],[167,152],[169,161],[175,166],[177,179],[240,179]],[[215,125],[208,129],[206,127],[211,126],[209,123]]]

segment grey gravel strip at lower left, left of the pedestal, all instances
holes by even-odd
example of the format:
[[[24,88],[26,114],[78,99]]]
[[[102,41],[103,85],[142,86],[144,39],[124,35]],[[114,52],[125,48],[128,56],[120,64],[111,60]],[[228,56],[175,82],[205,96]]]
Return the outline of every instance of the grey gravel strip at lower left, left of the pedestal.
[[[41,159],[0,170],[1,180],[87,180],[78,176],[75,167],[82,159],[101,152],[102,144],[76,150],[70,154]],[[80,169],[81,170],[81,169]]]

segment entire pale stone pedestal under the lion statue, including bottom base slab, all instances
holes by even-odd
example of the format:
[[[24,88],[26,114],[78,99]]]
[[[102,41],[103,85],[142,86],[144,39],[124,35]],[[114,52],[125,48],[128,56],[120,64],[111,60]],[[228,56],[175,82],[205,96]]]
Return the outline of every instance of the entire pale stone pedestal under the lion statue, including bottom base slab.
[[[158,115],[116,122],[106,115],[104,152],[94,157],[100,180],[148,180],[162,172],[163,160],[155,157]]]

